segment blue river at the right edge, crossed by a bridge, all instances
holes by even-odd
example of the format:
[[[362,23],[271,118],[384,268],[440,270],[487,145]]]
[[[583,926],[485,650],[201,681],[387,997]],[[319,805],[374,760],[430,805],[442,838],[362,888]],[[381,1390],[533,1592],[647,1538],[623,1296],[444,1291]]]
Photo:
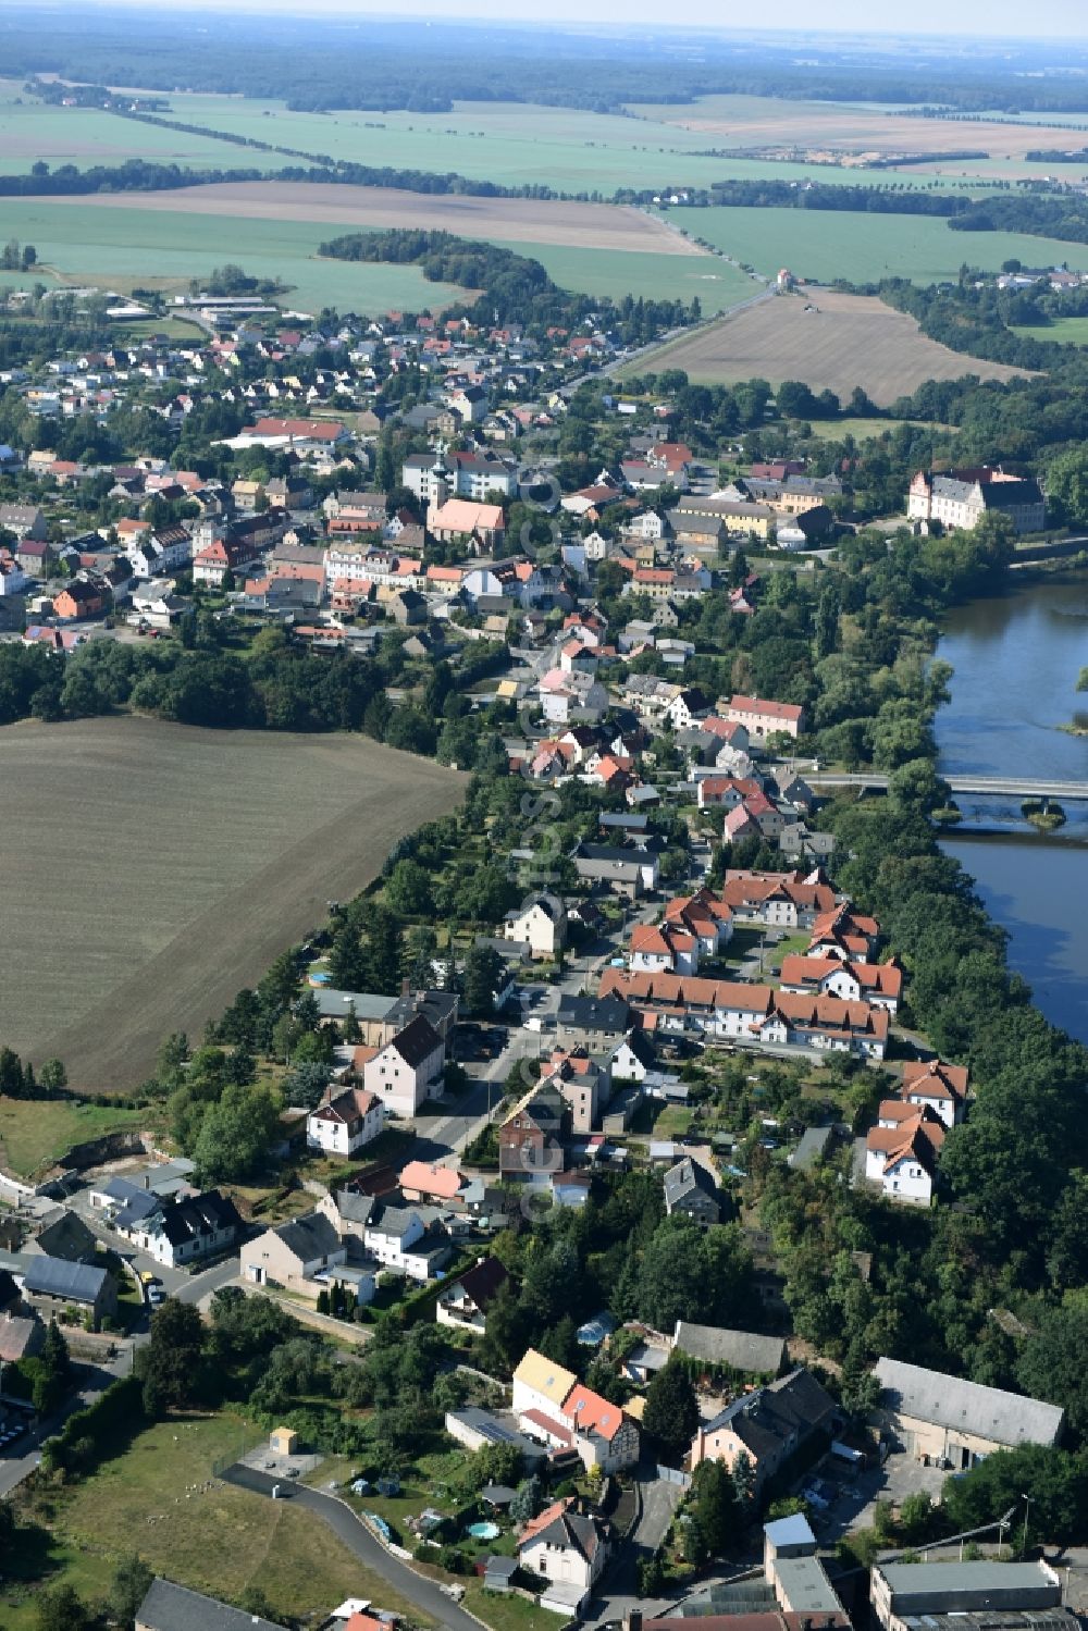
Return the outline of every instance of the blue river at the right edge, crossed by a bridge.
[[[975,600],[946,623],[951,703],[938,711],[946,775],[1088,781],[1088,727],[1077,677],[1088,665],[1088,579],[1047,581]],[[964,824],[944,842],[1010,935],[1008,962],[1054,1024],[1088,1042],[1088,804],[1070,804],[1059,837],[1023,820],[1018,799],[959,799]]]

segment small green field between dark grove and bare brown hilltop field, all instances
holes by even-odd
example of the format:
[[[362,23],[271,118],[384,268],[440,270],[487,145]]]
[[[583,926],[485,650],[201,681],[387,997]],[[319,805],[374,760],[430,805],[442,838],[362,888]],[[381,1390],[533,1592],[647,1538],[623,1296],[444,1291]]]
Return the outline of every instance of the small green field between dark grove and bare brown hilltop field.
[[[504,248],[532,254],[561,289],[612,295],[613,300],[621,300],[626,294],[648,300],[693,300],[698,295],[708,316],[731,312],[760,289],[736,266],[716,256],[577,250],[545,243],[506,243]]]

